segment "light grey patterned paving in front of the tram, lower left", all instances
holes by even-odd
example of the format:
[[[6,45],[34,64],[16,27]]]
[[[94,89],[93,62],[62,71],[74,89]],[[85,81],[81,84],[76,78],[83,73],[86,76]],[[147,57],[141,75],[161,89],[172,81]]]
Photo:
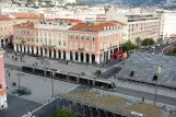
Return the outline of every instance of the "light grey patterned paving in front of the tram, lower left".
[[[7,70],[7,69],[5,69]],[[52,89],[51,89],[51,79],[47,79],[44,77],[27,74],[23,72],[19,72],[15,70],[9,70],[9,73],[5,73],[5,80],[8,84],[8,93],[11,94],[12,91],[17,89],[19,86],[19,77],[20,77],[20,85],[25,86],[32,91],[31,95],[22,95],[21,97],[45,104],[51,100]],[[12,83],[15,82],[16,86],[12,86]],[[62,94],[72,91],[78,87],[78,84],[72,84],[69,82],[62,82],[58,80],[54,80],[54,94]]]

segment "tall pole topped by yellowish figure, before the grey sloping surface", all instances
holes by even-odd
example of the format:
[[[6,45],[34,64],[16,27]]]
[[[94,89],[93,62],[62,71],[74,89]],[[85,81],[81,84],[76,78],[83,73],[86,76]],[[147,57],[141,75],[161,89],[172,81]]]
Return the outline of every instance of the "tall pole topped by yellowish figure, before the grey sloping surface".
[[[155,105],[155,102],[156,102],[156,94],[157,94],[157,77],[161,73],[161,71],[162,71],[162,68],[161,68],[161,66],[159,66],[156,72],[153,77],[153,81],[156,81],[156,87],[155,87],[155,93],[154,93],[154,105]]]

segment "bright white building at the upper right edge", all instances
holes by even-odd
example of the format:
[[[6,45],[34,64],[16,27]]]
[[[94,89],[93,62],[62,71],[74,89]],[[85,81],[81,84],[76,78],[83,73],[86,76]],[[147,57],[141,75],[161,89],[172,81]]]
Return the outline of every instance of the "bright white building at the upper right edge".
[[[161,37],[167,39],[176,35],[176,12],[161,14]]]

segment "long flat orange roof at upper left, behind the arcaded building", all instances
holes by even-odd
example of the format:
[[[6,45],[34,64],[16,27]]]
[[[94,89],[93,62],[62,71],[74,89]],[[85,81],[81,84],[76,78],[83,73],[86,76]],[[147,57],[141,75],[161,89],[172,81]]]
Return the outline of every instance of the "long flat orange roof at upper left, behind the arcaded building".
[[[38,19],[38,14],[35,13],[14,13],[12,15],[16,19]]]

